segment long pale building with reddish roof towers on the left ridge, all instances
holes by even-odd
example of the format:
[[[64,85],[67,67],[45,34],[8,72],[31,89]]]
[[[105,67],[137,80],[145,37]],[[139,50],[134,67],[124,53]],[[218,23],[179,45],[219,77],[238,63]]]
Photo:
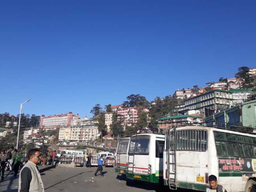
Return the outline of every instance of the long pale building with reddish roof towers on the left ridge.
[[[71,121],[79,119],[79,114],[73,115],[72,112],[60,115],[41,116],[40,128],[45,130],[56,129],[60,127],[69,127],[71,125]]]

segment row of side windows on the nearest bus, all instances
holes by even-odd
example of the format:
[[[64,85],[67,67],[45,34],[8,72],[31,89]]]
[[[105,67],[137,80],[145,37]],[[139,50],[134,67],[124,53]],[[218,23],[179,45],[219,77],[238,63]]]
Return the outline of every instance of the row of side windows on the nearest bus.
[[[217,156],[256,157],[256,138],[213,131]]]

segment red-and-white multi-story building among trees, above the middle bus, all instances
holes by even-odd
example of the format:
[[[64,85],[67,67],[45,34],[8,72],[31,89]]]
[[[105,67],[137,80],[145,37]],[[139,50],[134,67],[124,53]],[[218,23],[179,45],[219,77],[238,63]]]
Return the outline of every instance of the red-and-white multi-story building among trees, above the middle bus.
[[[132,126],[137,123],[139,116],[139,109],[142,112],[149,112],[147,108],[139,108],[139,107],[129,107],[129,108],[120,108],[117,111],[117,115],[120,115],[118,118],[122,118],[124,120],[124,125]]]

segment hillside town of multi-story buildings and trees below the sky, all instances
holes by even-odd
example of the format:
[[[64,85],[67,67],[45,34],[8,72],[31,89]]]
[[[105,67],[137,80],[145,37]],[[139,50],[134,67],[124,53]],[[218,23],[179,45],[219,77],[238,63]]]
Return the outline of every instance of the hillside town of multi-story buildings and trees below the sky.
[[[256,68],[248,69],[247,74],[249,74],[250,80],[255,79]],[[80,118],[78,113],[74,114],[73,112],[31,117],[25,117],[23,114],[24,122],[30,119],[35,123],[34,125],[30,124],[29,127],[22,127],[22,142],[25,145],[34,143],[38,148],[42,145],[56,144],[85,145],[101,143],[99,138],[107,142],[118,140],[124,136],[131,136],[140,129],[166,130],[170,126],[184,123],[202,123],[209,119],[218,121],[219,114],[223,112],[225,116],[240,116],[238,113],[229,113],[229,110],[233,111],[239,106],[239,109],[242,109],[242,114],[246,113],[246,108],[242,106],[245,106],[247,102],[255,101],[256,88],[246,88],[246,86],[248,87],[246,80],[238,77],[239,74],[236,74],[234,78],[220,78],[220,81],[206,83],[206,86],[201,88],[193,86],[193,88],[177,89],[173,96],[169,96],[169,100],[156,98],[156,100],[148,102],[143,96],[131,95],[123,104],[109,104],[104,109],[97,104],[91,110],[93,114],[91,118],[87,116]],[[171,105],[168,103],[170,101]],[[157,102],[168,105],[167,110],[169,111],[166,111],[165,114],[162,113],[162,116],[158,113],[154,114],[153,109],[156,108]],[[221,122],[224,122],[224,119],[230,120],[230,118],[222,118]],[[252,123],[256,121],[255,117],[253,118],[254,120],[250,120],[251,123],[247,121],[245,124],[239,120],[232,123],[256,128],[255,123]],[[0,119],[2,122],[1,141],[6,136],[15,134],[18,116],[5,113],[0,115]]]

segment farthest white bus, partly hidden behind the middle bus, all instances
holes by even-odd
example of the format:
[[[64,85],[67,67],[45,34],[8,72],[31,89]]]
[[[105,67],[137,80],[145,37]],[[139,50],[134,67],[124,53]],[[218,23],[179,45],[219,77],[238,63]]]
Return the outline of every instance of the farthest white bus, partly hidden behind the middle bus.
[[[116,173],[126,174],[127,172],[127,162],[128,162],[128,150],[129,150],[130,138],[125,137],[120,139],[117,144],[116,150]]]

